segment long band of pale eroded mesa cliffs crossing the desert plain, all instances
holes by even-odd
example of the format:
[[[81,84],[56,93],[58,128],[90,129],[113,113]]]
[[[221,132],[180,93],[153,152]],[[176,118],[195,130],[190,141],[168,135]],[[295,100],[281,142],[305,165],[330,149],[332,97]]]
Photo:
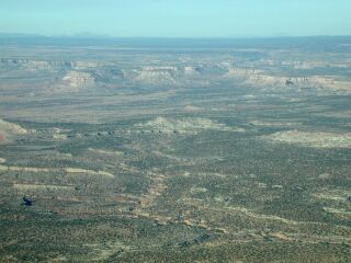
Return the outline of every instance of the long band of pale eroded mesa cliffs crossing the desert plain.
[[[317,88],[332,91],[350,92],[350,82],[333,76],[290,76],[294,69],[310,69],[321,67],[320,62],[308,61],[273,61],[262,60],[263,65],[234,67],[233,61],[170,61],[169,64],[144,65],[126,67],[114,61],[81,61],[81,60],[33,60],[20,58],[1,58],[0,70],[10,76],[22,72],[26,77],[35,73],[52,79],[50,89],[56,91],[78,91],[84,87],[100,84],[128,85],[147,84],[162,87],[208,85],[216,82],[235,82],[263,89],[301,89]],[[272,66],[273,65],[273,66]],[[287,71],[271,71],[270,68],[290,67]],[[282,73],[283,72],[283,73]],[[297,71],[298,72],[298,71]]]

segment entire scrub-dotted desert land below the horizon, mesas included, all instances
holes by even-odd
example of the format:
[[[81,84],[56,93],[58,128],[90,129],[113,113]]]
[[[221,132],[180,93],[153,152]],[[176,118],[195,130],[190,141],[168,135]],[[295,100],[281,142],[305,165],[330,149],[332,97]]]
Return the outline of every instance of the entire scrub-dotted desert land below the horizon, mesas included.
[[[0,47],[0,262],[351,262],[351,37]]]

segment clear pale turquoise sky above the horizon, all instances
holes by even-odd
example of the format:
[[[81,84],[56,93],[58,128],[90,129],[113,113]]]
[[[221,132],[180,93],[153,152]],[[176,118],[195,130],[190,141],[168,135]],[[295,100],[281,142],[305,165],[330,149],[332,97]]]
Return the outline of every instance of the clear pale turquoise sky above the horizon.
[[[351,0],[0,0],[0,33],[351,35]]]

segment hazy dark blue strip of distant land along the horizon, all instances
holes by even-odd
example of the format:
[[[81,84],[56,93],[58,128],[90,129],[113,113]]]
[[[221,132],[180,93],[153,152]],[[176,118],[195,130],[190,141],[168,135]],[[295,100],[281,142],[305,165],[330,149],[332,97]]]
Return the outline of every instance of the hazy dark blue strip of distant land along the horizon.
[[[39,35],[0,33],[0,46],[120,46],[135,48],[304,48],[305,50],[333,50],[336,45],[349,48],[351,36],[271,36],[237,38],[162,38],[162,37],[116,37],[89,32],[75,35]]]

